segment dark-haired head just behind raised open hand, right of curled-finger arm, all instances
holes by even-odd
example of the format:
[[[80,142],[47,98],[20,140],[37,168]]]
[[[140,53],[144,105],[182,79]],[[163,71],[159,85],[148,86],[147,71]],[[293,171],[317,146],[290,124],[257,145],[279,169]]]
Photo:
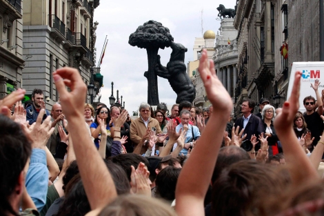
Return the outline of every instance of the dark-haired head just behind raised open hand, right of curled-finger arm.
[[[111,157],[110,160],[114,164],[119,164],[119,166],[121,166],[121,168],[125,170],[129,181],[130,174],[132,173],[132,168],[130,168],[130,166],[134,166],[134,168],[136,169],[137,166],[139,166],[140,162],[143,162],[147,167],[150,166],[148,159],[141,155],[136,155],[134,153],[119,154],[114,157]]]

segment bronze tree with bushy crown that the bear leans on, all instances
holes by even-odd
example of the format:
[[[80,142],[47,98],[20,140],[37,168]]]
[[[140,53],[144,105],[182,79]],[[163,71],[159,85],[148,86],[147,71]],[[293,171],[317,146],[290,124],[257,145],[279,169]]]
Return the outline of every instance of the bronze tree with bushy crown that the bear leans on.
[[[136,32],[130,35],[128,43],[131,46],[145,48],[148,53],[148,71],[144,72],[144,76],[148,79],[148,104],[155,106],[159,104],[159,91],[157,85],[157,75],[154,67],[157,63],[157,54],[159,48],[164,49],[170,47],[173,37],[170,30],[162,23],[150,20],[139,26]]]

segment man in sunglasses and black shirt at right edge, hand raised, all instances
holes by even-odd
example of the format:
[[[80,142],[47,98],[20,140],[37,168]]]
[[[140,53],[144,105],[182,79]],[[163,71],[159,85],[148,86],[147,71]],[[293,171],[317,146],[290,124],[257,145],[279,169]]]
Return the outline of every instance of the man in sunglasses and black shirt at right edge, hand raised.
[[[318,140],[320,139],[323,132],[323,120],[321,119],[321,115],[323,114],[323,101],[321,99],[321,95],[318,92],[318,86],[321,84],[318,79],[315,80],[314,84],[311,84],[312,88],[315,91],[316,99],[317,99],[317,112],[314,112],[315,107],[315,99],[312,96],[307,96],[303,100],[303,104],[306,109],[306,113],[304,113],[304,118],[307,124],[307,128],[312,132],[312,137],[315,137],[312,147],[310,150],[314,149]]]

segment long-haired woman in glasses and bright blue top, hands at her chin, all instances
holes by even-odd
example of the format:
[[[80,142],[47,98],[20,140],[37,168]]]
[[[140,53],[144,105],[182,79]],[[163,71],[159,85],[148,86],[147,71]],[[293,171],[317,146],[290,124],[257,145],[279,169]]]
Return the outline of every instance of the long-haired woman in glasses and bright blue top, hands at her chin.
[[[101,108],[97,110],[96,119],[94,120],[94,123],[90,125],[91,136],[94,137],[94,144],[96,145],[97,148],[99,148],[99,140],[101,139],[101,127],[100,127],[101,124],[103,124],[107,129],[108,137],[111,137],[112,128],[110,128],[109,126],[110,111],[105,106],[101,106]]]

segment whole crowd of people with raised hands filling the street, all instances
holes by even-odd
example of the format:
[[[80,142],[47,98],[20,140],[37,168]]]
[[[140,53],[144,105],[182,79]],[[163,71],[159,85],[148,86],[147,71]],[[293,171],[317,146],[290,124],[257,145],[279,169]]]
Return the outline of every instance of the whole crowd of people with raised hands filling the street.
[[[203,50],[211,106],[188,101],[131,119],[120,106],[85,103],[73,68],[53,74],[60,101],[19,89],[0,101],[0,215],[323,215],[323,100],[298,104],[301,72],[282,108],[232,99]],[[68,91],[67,88],[70,88]],[[15,104],[15,106],[14,106]]]

